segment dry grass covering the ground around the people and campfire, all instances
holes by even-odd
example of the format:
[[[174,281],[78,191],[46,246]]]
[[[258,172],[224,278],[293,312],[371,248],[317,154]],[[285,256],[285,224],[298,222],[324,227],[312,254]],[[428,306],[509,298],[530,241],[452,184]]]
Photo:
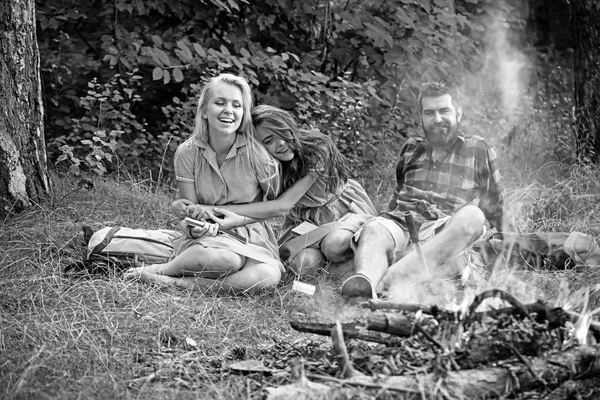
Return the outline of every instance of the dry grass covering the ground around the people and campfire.
[[[598,235],[600,171],[557,159],[549,150],[552,138],[544,133],[530,129],[507,148],[490,132],[502,156],[507,204],[517,226],[525,232]],[[364,171],[359,181],[383,209],[393,190],[397,148],[382,145],[380,151],[378,160],[386,165]],[[0,397],[258,399],[268,388],[294,382],[290,364],[298,358],[310,354],[335,367],[328,338],[300,334],[289,325],[360,318],[360,310],[341,303],[335,278],[319,278],[312,297],[292,291],[289,277],[277,289],[250,297],[181,291],[116,275],[63,276],[66,265],[84,257],[83,225],[174,227],[170,188],[100,178],[93,184],[88,191],[77,181],[54,176],[47,203],[2,222]],[[487,285],[507,289],[524,302],[552,302],[599,281],[596,270],[502,266]],[[229,368],[241,360],[258,360],[275,372]],[[376,392],[340,393],[376,397]]]

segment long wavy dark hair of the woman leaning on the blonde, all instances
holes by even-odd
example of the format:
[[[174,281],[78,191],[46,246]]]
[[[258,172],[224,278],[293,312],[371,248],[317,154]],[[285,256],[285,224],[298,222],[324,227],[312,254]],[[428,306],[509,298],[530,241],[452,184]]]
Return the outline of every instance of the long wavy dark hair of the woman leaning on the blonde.
[[[294,158],[282,162],[283,188],[287,189],[314,171],[325,181],[325,188],[334,192],[348,180],[349,170],[344,156],[331,138],[316,129],[300,129],[288,111],[269,105],[252,109],[255,128],[269,129],[285,140],[294,152]]]

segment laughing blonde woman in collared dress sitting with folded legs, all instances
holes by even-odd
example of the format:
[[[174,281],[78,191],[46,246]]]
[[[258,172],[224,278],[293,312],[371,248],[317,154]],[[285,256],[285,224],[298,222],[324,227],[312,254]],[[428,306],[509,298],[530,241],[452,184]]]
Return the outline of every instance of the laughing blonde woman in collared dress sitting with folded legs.
[[[222,74],[203,88],[194,134],[175,154],[181,197],[175,203],[250,203],[279,194],[279,165],[249,134],[251,109],[250,87],[241,77]],[[267,223],[236,228],[242,241],[220,233],[215,224],[194,227],[182,218],[179,227],[185,236],[176,241],[169,262],[133,268],[124,276],[225,291],[274,287],[281,279],[284,269]]]

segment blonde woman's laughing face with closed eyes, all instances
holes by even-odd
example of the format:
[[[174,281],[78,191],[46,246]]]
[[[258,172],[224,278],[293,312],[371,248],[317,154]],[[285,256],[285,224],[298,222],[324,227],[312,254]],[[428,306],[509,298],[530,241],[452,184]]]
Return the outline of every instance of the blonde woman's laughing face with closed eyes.
[[[213,90],[203,118],[208,122],[210,135],[237,133],[244,117],[242,90],[235,85],[221,82]]]

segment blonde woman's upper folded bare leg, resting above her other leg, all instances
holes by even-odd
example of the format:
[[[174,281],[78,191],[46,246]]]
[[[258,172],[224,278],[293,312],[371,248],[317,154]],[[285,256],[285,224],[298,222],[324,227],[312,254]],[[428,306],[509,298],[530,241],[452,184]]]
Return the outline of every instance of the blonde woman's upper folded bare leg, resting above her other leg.
[[[131,268],[125,276],[145,271],[167,276],[197,276],[218,279],[239,271],[246,258],[227,249],[216,249],[194,244],[165,264]]]

